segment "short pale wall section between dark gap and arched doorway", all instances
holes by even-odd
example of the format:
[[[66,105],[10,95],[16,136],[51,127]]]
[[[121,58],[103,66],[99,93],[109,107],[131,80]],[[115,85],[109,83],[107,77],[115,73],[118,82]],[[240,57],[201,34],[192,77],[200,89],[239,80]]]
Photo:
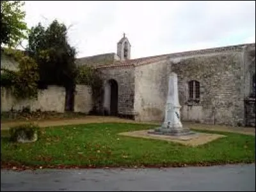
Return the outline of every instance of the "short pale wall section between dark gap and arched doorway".
[[[84,84],[77,84],[74,102],[74,112],[89,113],[92,108],[92,88]]]

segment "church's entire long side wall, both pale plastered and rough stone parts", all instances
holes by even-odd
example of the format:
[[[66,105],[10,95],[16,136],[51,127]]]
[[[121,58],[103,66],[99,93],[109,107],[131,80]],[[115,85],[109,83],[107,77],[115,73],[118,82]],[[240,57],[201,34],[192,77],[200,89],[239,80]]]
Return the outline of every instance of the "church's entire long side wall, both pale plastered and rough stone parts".
[[[189,56],[170,55],[166,61],[136,67],[135,120],[163,120],[168,75],[175,72],[178,76],[182,121],[245,125],[244,98],[249,95],[252,84],[250,79],[247,84],[244,83],[248,76],[246,68],[251,73],[255,69],[252,50],[250,54],[248,52],[243,46]],[[191,80],[200,82],[199,102],[189,101],[188,82]],[[245,93],[246,89],[248,94]]]

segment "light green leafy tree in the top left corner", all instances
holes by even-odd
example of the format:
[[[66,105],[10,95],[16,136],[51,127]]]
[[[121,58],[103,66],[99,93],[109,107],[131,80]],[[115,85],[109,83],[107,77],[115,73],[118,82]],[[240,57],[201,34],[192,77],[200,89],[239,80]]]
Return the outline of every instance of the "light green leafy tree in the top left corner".
[[[1,46],[15,47],[27,37],[26,13],[23,1],[1,1]]]

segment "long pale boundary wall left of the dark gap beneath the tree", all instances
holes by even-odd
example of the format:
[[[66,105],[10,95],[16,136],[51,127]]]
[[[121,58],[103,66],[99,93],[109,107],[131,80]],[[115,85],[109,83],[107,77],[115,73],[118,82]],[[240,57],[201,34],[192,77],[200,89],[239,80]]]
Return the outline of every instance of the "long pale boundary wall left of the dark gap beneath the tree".
[[[48,86],[46,90],[40,90],[36,99],[17,100],[7,88],[1,87],[1,112],[22,110],[29,108],[31,111],[65,111],[65,88],[60,86]]]

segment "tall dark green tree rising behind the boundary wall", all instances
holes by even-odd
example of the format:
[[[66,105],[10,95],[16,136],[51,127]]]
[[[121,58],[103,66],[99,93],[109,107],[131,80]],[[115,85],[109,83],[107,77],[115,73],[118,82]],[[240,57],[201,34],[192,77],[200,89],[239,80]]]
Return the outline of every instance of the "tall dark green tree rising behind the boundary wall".
[[[74,85],[76,50],[68,44],[65,24],[54,20],[47,28],[40,23],[33,27],[28,52],[38,63],[40,83]]]

